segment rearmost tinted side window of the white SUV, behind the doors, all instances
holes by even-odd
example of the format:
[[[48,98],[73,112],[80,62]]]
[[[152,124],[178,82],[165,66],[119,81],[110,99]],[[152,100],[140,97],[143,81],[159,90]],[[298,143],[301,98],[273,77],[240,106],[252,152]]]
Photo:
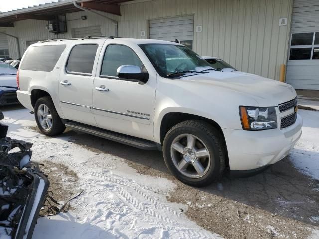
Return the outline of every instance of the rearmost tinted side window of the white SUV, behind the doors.
[[[29,71],[52,71],[66,45],[29,47],[20,69]]]

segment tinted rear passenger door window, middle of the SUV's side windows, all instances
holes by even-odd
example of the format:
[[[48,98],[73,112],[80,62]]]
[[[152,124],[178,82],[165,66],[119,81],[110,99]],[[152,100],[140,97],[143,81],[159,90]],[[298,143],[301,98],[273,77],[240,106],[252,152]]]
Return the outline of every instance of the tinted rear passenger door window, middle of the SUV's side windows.
[[[98,45],[75,45],[69,55],[66,71],[71,74],[92,75],[94,59]]]

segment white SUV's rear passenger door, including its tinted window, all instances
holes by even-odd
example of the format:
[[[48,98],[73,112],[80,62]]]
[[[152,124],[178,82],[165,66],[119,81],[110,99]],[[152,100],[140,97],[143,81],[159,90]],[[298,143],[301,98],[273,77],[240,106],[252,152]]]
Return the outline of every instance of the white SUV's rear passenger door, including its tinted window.
[[[81,40],[69,50],[59,78],[59,100],[65,119],[96,126],[92,87],[103,39]]]

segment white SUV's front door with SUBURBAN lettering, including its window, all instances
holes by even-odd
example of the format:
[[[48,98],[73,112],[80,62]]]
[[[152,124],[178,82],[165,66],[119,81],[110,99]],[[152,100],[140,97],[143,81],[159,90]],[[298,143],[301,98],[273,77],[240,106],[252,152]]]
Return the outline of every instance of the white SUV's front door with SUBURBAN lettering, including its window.
[[[120,79],[117,68],[122,65],[139,66],[146,71],[138,46],[108,44],[99,59],[99,74],[93,86],[93,113],[99,127],[131,136],[153,140],[156,74],[149,72],[149,80],[139,84],[135,80]],[[136,49],[133,49],[133,48]]]

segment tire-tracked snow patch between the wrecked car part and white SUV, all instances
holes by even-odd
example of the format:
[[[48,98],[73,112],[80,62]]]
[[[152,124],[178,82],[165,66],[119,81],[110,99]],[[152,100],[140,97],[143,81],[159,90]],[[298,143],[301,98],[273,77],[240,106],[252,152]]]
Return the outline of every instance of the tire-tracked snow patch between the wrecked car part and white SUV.
[[[84,190],[71,202],[75,210],[39,218],[33,239],[220,238],[190,221],[180,210],[186,205],[167,202],[174,188],[169,180],[137,174],[117,156],[89,151],[68,137],[45,137],[27,128],[35,122],[26,109],[4,114],[9,137],[34,143],[33,161],[66,165]]]

